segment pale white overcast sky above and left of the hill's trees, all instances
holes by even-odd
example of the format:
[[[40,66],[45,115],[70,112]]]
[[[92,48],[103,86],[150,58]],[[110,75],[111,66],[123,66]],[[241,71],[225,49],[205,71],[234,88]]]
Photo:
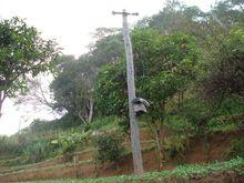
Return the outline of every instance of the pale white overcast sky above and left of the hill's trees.
[[[197,6],[207,11],[216,0],[182,0],[187,6]],[[121,28],[121,16],[112,11],[126,9],[139,12],[130,17],[129,23],[135,23],[143,17],[157,13],[165,0],[0,0],[0,18],[20,17],[29,26],[35,27],[44,39],[54,39],[64,54],[77,58],[88,51],[92,32],[96,28]],[[11,135],[30,124],[33,119],[53,119],[47,109],[32,110],[30,104],[14,105],[8,99],[0,119],[0,135]]]

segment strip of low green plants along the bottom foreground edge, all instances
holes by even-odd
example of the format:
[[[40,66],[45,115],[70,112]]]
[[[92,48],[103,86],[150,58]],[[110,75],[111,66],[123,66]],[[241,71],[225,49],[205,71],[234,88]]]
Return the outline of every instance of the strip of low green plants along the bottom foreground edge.
[[[244,174],[244,157],[232,159],[226,162],[215,162],[211,164],[180,165],[173,171],[148,172],[143,176],[119,175],[98,179],[83,180],[58,180],[58,181],[34,181],[29,183],[128,183],[128,182],[163,182],[169,176],[187,180],[193,175],[209,175],[217,171],[233,170]]]

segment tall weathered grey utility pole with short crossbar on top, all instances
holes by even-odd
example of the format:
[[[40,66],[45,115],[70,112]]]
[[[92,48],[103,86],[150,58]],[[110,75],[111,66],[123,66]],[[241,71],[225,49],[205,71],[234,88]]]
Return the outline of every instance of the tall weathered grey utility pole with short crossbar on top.
[[[139,13],[128,13],[125,10],[123,10],[122,12],[113,11],[112,13],[122,14],[123,17],[123,38],[124,38],[124,48],[125,48],[125,57],[126,57],[129,118],[130,118],[130,128],[131,128],[133,166],[134,166],[134,173],[136,175],[142,175],[143,164],[142,164],[142,153],[141,153],[141,144],[140,144],[140,133],[139,133],[139,125],[136,122],[135,112],[132,105],[132,100],[135,99],[134,65],[133,65],[132,44],[128,28],[128,16],[138,16]]]

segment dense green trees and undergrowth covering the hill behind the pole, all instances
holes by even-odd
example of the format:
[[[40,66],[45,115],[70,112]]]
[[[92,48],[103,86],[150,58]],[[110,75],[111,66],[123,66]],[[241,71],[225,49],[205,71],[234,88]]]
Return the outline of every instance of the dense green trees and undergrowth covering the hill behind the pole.
[[[170,160],[181,162],[193,140],[203,141],[209,161],[212,134],[243,133],[243,6],[242,0],[224,0],[203,12],[167,1],[162,11],[132,28],[136,95],[150,102],[140,126],[151,131],[161,167]],[[2,164],[39,162],[57,155],[71,161],[84,149],[94,149],[94,161],[116,163],[130,153],[122,143],[130,133],[122,32],[100,28],[94,35],[96,41],[88,53],[79,59],[59,55],[52,62],[55,72],[50,89],[54,101],[49,105],[65,114],[50,122],[35,120],[13,136],[1,136],[0,153],[20,155]],[[39,69],[44,71],[45,67]],[[163,136],[163,131],[169,133]],[[243,157],[243,138],[233,140],[226,148],[226,160]],[[235,161],[243,163],[242,157]],[[184,166],[155,176],[183,173],[185,177],[190,169],[209,173],[215,167],[218,170],[218,164],[200,170]],[[151,174],[143,177],[150,180]]]

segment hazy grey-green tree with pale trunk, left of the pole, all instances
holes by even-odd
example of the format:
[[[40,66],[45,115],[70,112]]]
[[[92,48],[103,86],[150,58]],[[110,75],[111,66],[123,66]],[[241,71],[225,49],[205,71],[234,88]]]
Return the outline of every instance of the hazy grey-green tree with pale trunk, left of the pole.
[[[79,60],[62,55],[58,58],[57,74],[51,84],[54,92],[54,109],[67,110],[83,122],[91,122],[94,108],[93,88],[99,70],[123,55],[122,34],[118,29],[99,28],[95,42],[88,54]]]

